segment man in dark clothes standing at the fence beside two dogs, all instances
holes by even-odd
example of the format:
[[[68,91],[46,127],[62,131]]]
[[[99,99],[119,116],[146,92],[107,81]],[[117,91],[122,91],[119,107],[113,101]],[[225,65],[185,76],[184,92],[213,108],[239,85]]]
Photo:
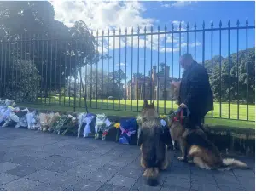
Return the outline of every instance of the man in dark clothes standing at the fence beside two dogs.
[[[208,111],[213,110],[212,89],[207,70],[193,60],[191,54],[183,54],[180,65],[184,69],[180,85],[178,105],[188,107],[190,111],[187,128],[201,126],[202,119]]]

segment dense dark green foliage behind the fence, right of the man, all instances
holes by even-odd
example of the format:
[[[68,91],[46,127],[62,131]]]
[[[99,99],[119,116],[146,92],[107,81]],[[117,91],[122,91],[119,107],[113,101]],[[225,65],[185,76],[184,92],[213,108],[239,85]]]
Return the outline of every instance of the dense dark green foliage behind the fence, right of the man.
[[[255,48],[230,54],[230,59],[215,56],[212,60],[205,61],[205,66],[210,75],[216,101],[220,100],[220,97],[222,101],[228,101],[230,97],[231,101],[239,100],[241,103],[252,104],[255,102]]]

